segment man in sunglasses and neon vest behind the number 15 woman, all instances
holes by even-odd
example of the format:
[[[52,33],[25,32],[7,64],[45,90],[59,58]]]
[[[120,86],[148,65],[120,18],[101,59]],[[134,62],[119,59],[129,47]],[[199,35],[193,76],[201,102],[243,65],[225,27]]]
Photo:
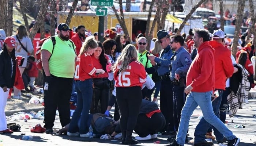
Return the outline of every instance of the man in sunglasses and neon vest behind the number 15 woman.
[[[137,46],[138,46],[138,61],[142,63],[146,72],[149,74],[150,77],[152,77],[152,74],[155,72],[155,68],[152,66],[152,64],[150,63],[150,60],[147,57],[147,55],[149,54],[149,52],[146,50],[147,39],[145,37],[139,37],[137,40]],[[153,91],[154,91],[154,88],[151,90],[144,88],[142,90],[143,99],[151,101],[151,95]]]

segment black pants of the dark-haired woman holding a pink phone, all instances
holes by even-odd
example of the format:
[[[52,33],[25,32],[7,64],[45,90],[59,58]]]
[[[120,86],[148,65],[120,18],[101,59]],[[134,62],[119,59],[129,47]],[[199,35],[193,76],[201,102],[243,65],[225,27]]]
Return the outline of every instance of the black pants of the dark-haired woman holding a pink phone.
[[[109,80],[108,78],[94,78],[93,85],[93,100],[91,102],[90,113],[104,114],[107,110],[109,102]],[[100,106],[98,105],[98,103],[100,103]]]

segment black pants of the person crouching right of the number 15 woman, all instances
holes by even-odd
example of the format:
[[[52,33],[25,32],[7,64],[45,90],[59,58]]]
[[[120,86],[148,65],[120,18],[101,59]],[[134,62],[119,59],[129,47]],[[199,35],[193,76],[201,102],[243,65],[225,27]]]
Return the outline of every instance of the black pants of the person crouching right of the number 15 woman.
[[[146,137],[148,134],[156,134],[157,131],[161,131],[165,127],[165,116],[162,112],[155,113],[148,118],[146,114],[139,114],[134,131],[140,137]]]

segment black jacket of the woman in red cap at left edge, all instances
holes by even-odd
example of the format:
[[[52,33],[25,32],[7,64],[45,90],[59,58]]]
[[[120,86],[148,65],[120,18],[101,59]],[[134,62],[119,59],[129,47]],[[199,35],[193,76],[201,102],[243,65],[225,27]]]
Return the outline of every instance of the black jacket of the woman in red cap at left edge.
[[[13,55],[15,56],[14,52],[13,52]],[[11,64],[11,61],[13,62],[13,65]],[[15,59],[11,59],[6,49],[1,50],[0,51],[0,87],[3,88],[6,86],[7,88],[13,88],[15,74],[16,74]]]

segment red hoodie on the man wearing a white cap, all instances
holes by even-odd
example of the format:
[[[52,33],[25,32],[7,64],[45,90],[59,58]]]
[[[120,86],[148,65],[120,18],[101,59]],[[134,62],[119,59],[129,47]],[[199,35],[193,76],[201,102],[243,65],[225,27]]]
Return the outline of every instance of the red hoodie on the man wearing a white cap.
[[[225,90],[226,79],[231,77],[234,72],[233,63],[231,60],[231,52],[227,47],[217,41],[209,41],[215,49],[215,89]]]

